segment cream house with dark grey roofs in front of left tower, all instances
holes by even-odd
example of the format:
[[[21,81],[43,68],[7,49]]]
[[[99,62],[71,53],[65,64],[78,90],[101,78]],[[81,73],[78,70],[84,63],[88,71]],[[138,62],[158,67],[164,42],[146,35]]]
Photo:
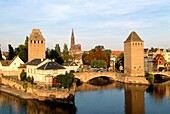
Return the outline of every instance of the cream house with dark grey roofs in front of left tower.
[[[50,59],[33,59],[26,64],[27,77],[38,83],[52,83],[52,77],[65,74],[66,69]]]

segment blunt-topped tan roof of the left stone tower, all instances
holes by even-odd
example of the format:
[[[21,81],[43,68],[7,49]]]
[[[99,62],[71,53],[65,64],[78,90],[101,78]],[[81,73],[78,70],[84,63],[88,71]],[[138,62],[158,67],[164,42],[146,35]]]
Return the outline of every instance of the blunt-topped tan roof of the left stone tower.
[[[40,29],[33,29],[30,34],[30,39],[32,40],[45,40],[42,36]]]

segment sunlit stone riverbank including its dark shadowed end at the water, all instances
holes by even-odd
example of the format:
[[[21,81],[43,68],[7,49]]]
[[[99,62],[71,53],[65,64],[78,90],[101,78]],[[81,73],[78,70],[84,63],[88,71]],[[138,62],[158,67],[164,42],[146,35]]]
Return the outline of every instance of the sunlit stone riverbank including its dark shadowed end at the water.
[[[30,84],[27,84],[27,88],[23,88],[25,82],[22,83],[6,77],[1,77],[1,80],[0,91],[22,99],[74,104],[74,90],[72,89],[48,89],[42,88],[42,85]]]

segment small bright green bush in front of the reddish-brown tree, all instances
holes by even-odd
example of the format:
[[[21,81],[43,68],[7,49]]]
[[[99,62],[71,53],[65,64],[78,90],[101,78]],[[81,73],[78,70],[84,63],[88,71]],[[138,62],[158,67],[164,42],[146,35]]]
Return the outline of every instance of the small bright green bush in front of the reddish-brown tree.
[[[96,68],[106,68],[106,62],[104,60],[93,60],[91,62],[91,66],[96,67]]]

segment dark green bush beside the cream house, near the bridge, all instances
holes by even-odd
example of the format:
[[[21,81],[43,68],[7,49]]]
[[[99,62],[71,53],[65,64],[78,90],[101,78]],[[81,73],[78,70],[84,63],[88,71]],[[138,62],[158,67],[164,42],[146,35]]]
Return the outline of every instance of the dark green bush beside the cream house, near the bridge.
[[[58,75],[56,77],[56,82],[60,83],[60,87],[71,88],[74,81],[74,75],[68,73],[66,75]]]

